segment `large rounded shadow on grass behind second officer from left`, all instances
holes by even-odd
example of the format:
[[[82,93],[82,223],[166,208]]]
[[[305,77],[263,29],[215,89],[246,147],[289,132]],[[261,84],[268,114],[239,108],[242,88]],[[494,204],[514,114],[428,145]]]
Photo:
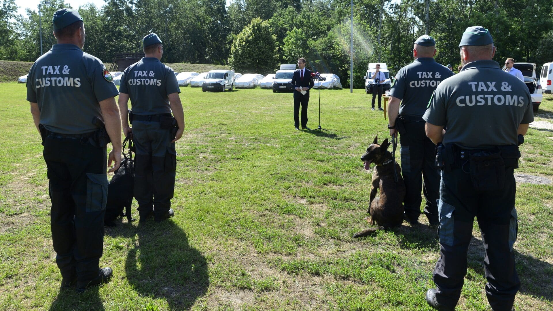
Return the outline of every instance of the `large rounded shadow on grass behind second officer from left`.
[[[142,296],[167,300],[170,309],[190,309],[209,286],[205,257],[172,220],[150,221],[137,233],[125,263],[128,282]]]

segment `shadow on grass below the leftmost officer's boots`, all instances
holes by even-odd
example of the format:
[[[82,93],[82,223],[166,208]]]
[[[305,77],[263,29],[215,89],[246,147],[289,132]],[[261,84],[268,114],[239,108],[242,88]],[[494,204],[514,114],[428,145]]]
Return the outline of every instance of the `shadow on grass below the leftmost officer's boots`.
[[[50,311],[58,310],[104,310],[102,299],[98,294],[98,287],[87,289],[82,294],[77,294],[74,288],[60,291],[58,297],[50,305]]]

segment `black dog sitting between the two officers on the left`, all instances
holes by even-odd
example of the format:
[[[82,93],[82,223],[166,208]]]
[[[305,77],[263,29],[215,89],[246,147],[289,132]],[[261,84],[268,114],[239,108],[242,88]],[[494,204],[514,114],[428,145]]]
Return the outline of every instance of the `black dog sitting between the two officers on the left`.
[[[107,190],[106,215],[104,224],[108,227],[115,226],[114,220],[119,216],[127,216],[129,222],[133,221],[131,216],[131,205],[133,204],[133,185],[134,185],[134,160],[132,159],[132,140],[131,135],[125,138],[123,142],[123,157],[121,165],[115,171],[113,178],[109,181]],[[129,153],[124,153],[125,144],[129,144]],[[123,208],[125,212],[123,212]]]

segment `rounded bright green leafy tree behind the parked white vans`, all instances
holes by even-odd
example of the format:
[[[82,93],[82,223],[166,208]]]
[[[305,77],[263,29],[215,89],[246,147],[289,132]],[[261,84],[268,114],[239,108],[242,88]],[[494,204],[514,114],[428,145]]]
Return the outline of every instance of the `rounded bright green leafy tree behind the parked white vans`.
[[[254,18],[234,38],[228,63],[237,71],[259,72],[265,75],[276,69],[276,53],[275,36],[270,33],[269,23],[267,20]]]

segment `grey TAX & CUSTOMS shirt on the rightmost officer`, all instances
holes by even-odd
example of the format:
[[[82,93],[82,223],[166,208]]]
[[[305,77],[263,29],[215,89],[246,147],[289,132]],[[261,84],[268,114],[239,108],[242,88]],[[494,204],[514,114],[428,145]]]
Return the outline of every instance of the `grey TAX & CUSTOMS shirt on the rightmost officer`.
[[[423,118],[447,127],[444,144],[475,149],[517,144],[519,125],[534,114],[524,82],[493,60],[478,60],[437,87]]]

